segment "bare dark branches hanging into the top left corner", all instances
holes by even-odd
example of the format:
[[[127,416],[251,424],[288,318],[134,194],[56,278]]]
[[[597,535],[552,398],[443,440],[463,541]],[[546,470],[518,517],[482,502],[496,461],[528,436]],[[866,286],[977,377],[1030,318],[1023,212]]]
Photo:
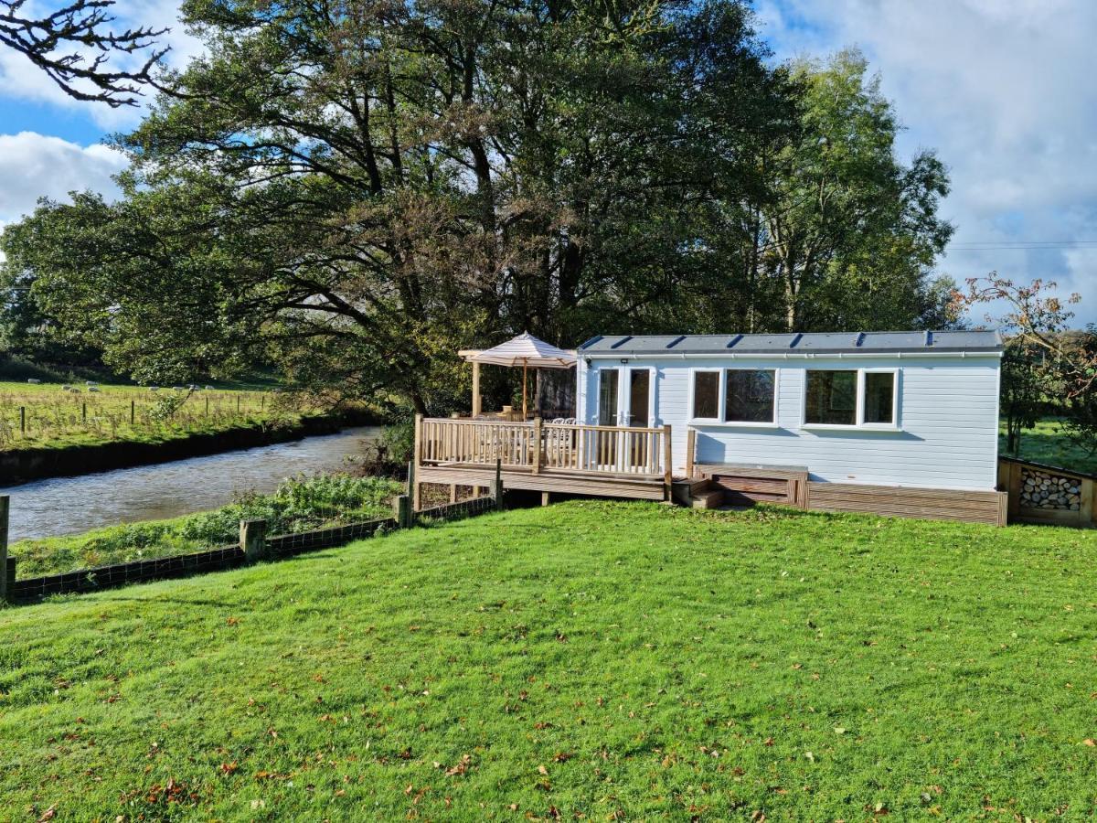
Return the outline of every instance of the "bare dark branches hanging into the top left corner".
[[[41,14],[26,0],[0,0],[0,45],[19,52],[69,97],[110,106],[136,105],[140,87],[168,49],[156,46],[167,29],[111,29],[113,0],[73,0]],[[143,54],[136,69],[109,65],[112,57]]]

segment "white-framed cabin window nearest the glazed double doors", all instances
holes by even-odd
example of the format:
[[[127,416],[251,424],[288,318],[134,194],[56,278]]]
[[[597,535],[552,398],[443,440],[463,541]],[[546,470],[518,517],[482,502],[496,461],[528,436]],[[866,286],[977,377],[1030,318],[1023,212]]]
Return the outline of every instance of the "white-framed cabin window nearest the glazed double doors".
[[[694,420],[748,426],[777,422],[773,369],[698,369],[692,392]]]

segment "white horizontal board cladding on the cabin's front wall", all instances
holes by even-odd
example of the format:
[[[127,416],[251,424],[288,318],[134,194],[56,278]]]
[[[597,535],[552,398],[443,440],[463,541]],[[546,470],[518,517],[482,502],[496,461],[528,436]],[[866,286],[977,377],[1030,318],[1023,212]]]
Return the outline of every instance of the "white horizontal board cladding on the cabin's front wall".
[[[627,360],[626,363],[621,360]],[[627,414],[623,370],[649,368],[654,426],[672,431],[674,471],[686,467],[686,432],[697,431],[698,463],[803,465],[814,481],[923,488],[993,489],[997,483],[997,353],[584,358],[577,369],[577,416],[598,418],[598,380],[621,369],[619,415]],[[776,422],[759,426],[691,418],[694,370],[776,370]],[[806,370],[894,371],[894,425],[804,422]],[[721,403],[724,381],[721,380]],[[721,406],[723,408],[723,406]],[[857,416],[863,403],[858,392]],[[623,425],[623,424],[622,424]]]

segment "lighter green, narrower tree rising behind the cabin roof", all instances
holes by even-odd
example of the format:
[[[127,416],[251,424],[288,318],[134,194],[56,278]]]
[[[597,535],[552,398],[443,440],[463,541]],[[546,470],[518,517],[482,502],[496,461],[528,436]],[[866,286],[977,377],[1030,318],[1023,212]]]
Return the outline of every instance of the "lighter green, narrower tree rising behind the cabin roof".
[[[755,280],[780,290],[790,331],[907,328],[948,319],[940,283],[928,279],[952,226],[937,216],[948,176],[931,151],[905,166],[900,126],[880,78],[856,50],[826,64],[798,61],[799,138],[762,162],[768,202],[751,235]]]

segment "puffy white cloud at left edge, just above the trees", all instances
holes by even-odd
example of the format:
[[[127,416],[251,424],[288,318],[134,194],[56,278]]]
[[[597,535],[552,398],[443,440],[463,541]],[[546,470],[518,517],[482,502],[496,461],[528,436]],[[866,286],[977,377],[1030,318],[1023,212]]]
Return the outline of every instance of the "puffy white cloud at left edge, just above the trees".
[[[126,165],[124,154],[100,144],[83,147],[34,132],[0,135],[0,224],[34,211],[41,196],[59,200],[83,189],[115,196],[111,176]]]

